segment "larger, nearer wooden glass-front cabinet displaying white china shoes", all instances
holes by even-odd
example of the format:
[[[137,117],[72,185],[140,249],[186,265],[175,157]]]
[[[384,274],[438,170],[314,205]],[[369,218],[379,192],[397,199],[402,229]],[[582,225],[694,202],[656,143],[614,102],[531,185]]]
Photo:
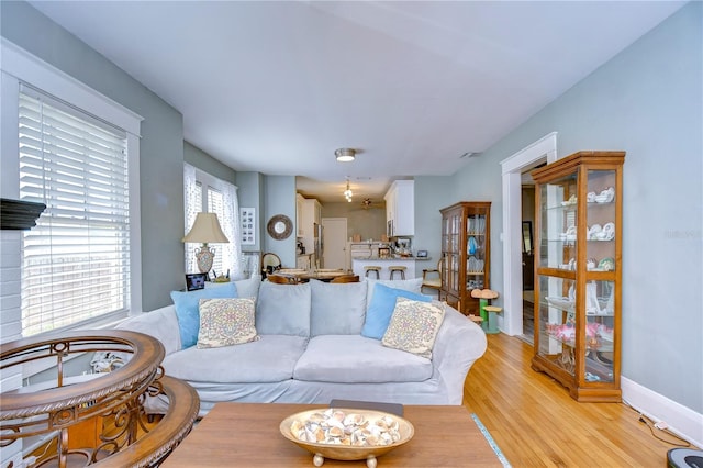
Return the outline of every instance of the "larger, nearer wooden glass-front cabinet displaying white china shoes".
[[[536,182],[533,369],[577,401],[617,402],[624,152],[579,152]]]

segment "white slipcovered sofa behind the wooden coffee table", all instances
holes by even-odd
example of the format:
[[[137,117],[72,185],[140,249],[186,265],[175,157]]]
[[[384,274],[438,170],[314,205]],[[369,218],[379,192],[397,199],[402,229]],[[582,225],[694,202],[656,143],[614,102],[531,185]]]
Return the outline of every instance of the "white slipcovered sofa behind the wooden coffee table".
[[[467,374],[487,347],[481,327],[446,305],[431,359],[386,347],[361,335],[377,283],[420,292],[421,279],[297,286],[257,277],[235,281],[237,297],[257,298],[260,339],[234,346],[182,349],[174,305],[131,317],[120,328],[164,344],[165,372],[198,391],[201,414],[223,401],[461,404]],[[149,411],[165,408],[152,402]]]

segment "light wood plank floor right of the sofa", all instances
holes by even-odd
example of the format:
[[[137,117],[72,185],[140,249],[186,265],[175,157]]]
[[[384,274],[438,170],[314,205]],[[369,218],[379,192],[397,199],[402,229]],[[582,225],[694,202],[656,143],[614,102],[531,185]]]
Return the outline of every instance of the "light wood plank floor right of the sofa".
[[[577,403],[532,370],[532,355],[516,337],[488,335],[464,387],[464,404],[513,467],[667,466],[667,450],[676,447],[656,439],[639,413],[622,403]]]

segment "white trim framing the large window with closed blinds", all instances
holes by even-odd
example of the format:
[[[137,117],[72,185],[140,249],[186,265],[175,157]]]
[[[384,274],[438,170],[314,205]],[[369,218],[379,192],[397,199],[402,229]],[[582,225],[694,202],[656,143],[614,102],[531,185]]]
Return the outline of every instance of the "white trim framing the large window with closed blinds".
[[[0,64],[2,70],[2,110],[0,134],[2,135],[2,197],[19,199],[19,144],[18,118],[9,109],[16,109],[19,81],[26,82],[63,101],[80,108],[94,116],[120,126],[127,133],[130,199],[130,315],[142,312],[142,247],[141,247],[141,193],[140,193],[140,133],[144,120],[137,113],[101,94],[58,68],[30,54],[12,42],[1,38]],[[14,104],[12,103],[14,102]],[[16,114],[16,112],[15,112]],[[14,137],[11,135],[14,134]],[[9,174],[8,174],[9,172]],[[12,178],[14,181],[12,181]],[[5,182],[8,185],[5,186]],[[114,314],[108,314],[114,321]],[[108,316],[88,321],[91,325],[105,322]],[[78,326],[86,327],[86,322]],[[70,327],[68,327],[70,328]]]

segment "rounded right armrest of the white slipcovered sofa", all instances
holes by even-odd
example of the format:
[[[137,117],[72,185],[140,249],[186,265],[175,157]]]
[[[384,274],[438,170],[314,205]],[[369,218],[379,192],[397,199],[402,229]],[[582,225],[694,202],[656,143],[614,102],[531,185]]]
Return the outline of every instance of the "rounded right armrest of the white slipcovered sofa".
[[[450,404],[461,404],[464,381],[473,363],[483,356],[488,342],[480,326],[446,305],[442,327],[432,352],[435,371],[444,381]]]

